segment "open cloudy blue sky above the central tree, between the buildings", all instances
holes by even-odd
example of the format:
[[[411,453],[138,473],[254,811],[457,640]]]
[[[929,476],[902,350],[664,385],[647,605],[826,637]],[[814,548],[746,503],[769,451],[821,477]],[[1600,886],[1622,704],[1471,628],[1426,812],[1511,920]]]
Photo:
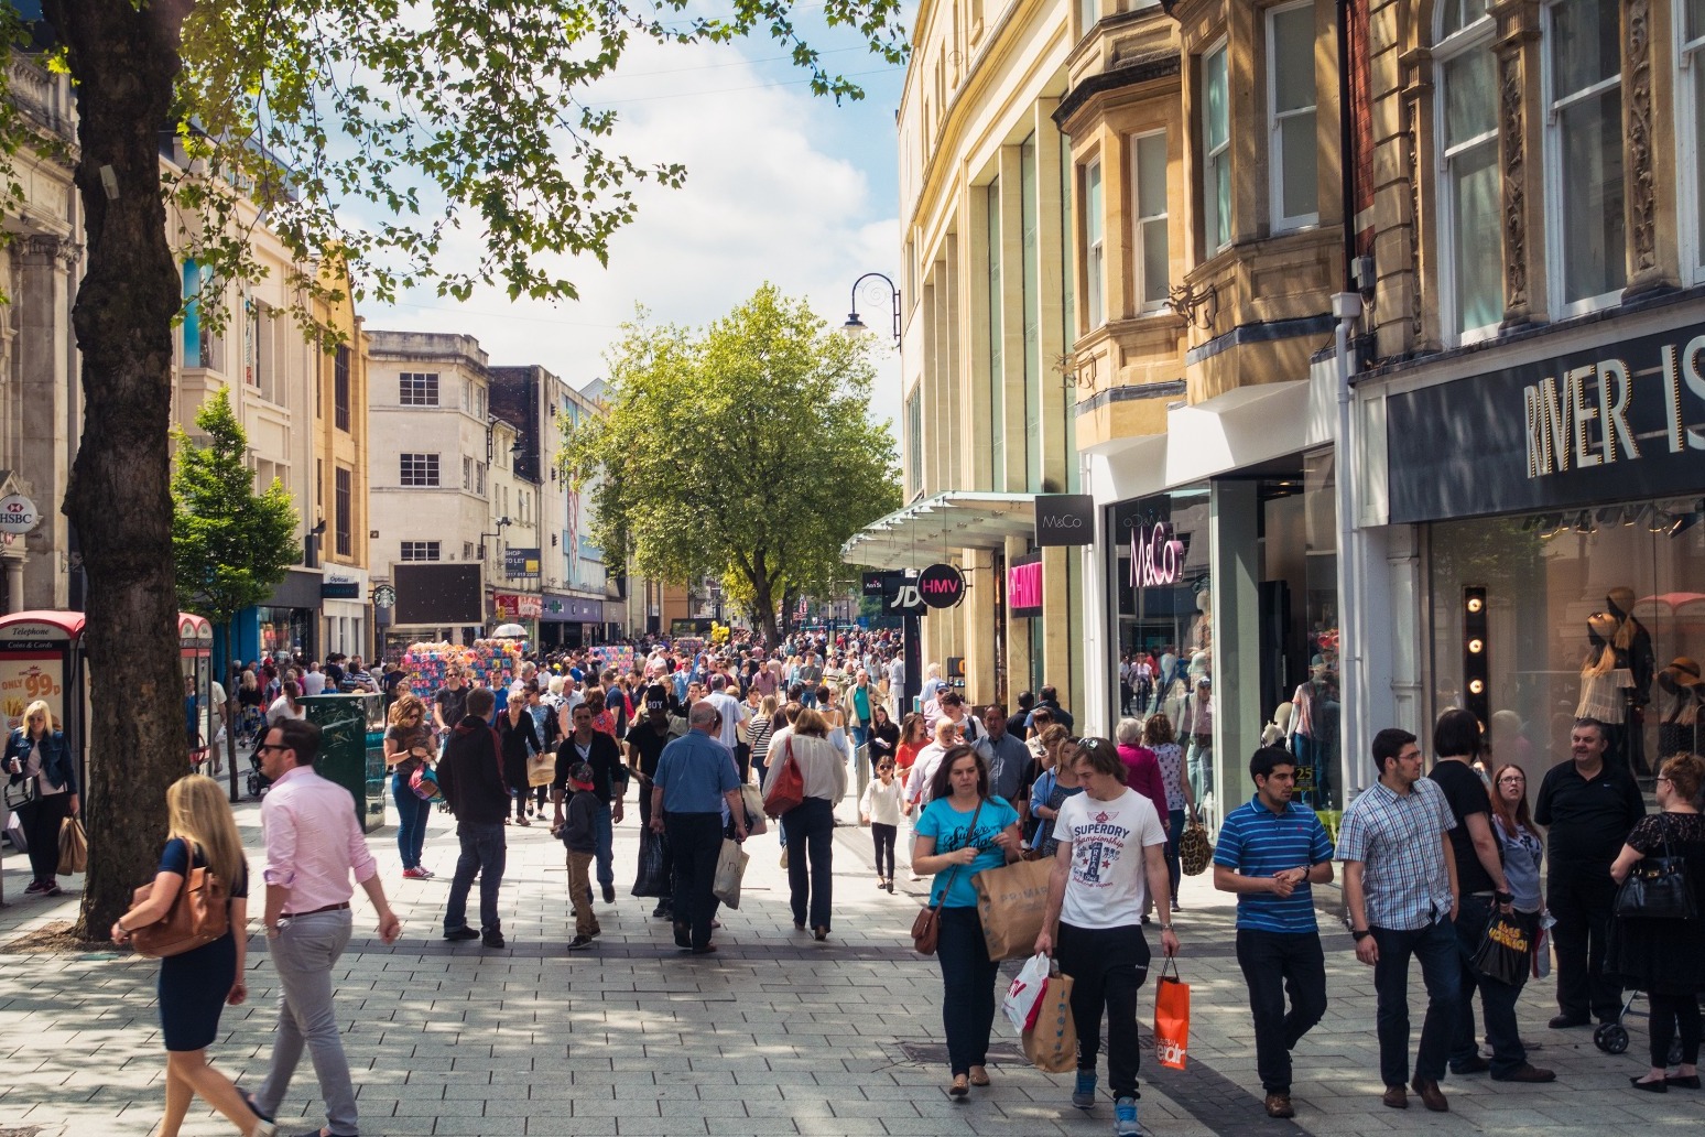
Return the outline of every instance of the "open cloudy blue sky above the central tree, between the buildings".
[[[593,104],[621,116],[616,150],[684,162],[687,182],[639,191],[638,218],[612,239],[609,269],[593,259],[568,269],[578,303],[512,303],[481,290],[459,305],[421,291],[396,307],[367,305],[367,326],[465,332],[494,365],[537,363],[576,387],[604,375],[604,349],[636,303],[658,322],[702,326],[771,281],[839,326],[861,273],[899,278],[893,114],[904,72],[868,55],[856,34],[822,29],[812,12],[801,9],[801,31],[827,66],[856,77],[863,101],[812,95],[769,39],[629,46]],[[885,332],[887,295],[863,293],[859,310]],[[873,343],[883,344],[871,404],[880,421],[899,407],[899,363],[887,334]]]

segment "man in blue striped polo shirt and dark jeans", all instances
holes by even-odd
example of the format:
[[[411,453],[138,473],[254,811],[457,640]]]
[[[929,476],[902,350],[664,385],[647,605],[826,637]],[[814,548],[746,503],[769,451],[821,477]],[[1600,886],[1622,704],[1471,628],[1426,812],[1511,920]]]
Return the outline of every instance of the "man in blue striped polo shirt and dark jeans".
[[[1250,777],[1255,798],[1219,827],[1214,888],[1238,893],[1238,965],[1250,987],[1267,1117],[1296,1117],[1291,1050],[1326,1013],[1326,956],[1309,885],[1332,880],[1332,840],[1313,810],[1291,801],[1296,759],[1287,750],[1257,750]]]

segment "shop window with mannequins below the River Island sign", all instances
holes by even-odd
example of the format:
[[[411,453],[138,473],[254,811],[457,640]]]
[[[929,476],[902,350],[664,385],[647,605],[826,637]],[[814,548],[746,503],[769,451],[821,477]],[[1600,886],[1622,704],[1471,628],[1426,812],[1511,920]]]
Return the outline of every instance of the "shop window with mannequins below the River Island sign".
[[[1608,760],[1649,779],[1700,750],[1705,527],[1696,499],[1434,523],[1434,714],[1470,706],[1465,590],[1487,597],[1492,762],[1538,784],[1575,718],[1608,726]]]

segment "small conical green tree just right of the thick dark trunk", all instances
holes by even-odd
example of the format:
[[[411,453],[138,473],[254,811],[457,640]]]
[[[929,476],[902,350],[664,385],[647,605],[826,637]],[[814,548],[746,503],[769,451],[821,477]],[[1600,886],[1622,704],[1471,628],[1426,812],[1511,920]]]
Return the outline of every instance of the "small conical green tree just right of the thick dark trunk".
[[[237,614],[273,595],[297,563],[297,506],[276,477],[266,491],[254,491],[254,470],[244,460],[249,435],[230,409],[230,389],[222,387],[201,404],[196,430],[206,436],[206,445],[172,430],[177,447],[172,465],[177,605],[223,627],[227,649],[234,649]],[[235,801],[237,731],[225,731],[225,757]]]

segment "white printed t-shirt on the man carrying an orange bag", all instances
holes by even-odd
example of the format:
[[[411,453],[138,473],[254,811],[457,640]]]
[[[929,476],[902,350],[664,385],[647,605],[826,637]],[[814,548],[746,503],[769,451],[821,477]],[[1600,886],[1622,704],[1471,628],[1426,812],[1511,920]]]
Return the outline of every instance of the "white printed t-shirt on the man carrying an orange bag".
[[[1142,851],[1166,844],[1154,803],[1134,789],[1112,801],[1074,794],[1061,803],[1054,839],[1071,842],[1071,880],[1061,921],[1072,927],[1142,922],[1147,900]]]

